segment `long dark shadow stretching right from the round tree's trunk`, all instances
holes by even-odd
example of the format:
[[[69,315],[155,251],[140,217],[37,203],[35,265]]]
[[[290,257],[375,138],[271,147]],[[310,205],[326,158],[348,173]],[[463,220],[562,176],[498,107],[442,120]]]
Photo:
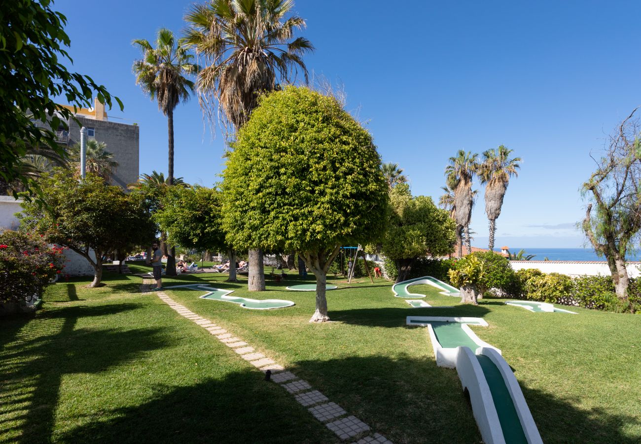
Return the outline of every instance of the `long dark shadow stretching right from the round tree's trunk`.
[[[488,312],[482,305],[456,305],[452,308],[376,308],[329,310],[329,319],[367,327],[399,327],[405,325],[407,316],[466,316],[483,318]],[[410,328],[410,326],[408,326]],[[413,328],[413,327],[412,327]]]

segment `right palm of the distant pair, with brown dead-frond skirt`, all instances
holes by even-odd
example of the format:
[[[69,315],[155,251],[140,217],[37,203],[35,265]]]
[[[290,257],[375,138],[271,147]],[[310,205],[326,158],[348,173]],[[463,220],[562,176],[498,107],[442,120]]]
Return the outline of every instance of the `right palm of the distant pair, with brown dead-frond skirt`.
[[[483,152],[483,162],[479,165],[478,176],[481,184],[485,184],[485,212],[490,221],[490,237],[488,248],[494,250],[494,234],[496,219],[501,214],[503,198],[508,189],[510,177],[518,176],[520,157],[509,158],[512,149],[500,145],[497,149]]]

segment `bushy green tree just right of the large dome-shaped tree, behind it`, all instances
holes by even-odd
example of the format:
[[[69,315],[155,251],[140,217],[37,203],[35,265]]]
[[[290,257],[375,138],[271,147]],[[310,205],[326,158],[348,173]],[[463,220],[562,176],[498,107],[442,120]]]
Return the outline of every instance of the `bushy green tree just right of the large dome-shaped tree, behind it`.
[[[438,209],[430,197],[412,197],[408,185],[400,184],[390,191],[390,207],[381,250],[396,263],[397,282],[406,279],[418,257],[452,252],[456,223],[449,211]]]

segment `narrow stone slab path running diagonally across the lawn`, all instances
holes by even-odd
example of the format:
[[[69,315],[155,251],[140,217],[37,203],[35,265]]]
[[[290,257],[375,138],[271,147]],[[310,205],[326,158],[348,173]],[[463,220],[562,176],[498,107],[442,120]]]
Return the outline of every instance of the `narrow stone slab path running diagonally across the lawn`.
[[[152,289],[153,281],[147,278],[143,279],[140,291],[151,294]],[[341,440],[360,438],[360,440],[355,441],[356,444],[392,444],[392,441],[385,438],[385,436],[379,433],[372,433],[369,425],[356,418],[356,416],[347,416],[347,412],[342,407],[338,406],[335,402],[329,402],[329,398],[320,393],[320,391],[314,390],[309,382],[300,379],[292,373],[292,371],[288,371],[273,359],[256,352],[253,346],[247,344],[239,337],[234,336],[233,332],[228,332],[212,321],[190,311],[184,305],[175,302],[167,296],[167,293],[164,291],[158,291],[156,295],[179,315],[183,316],[183,318],[193,321],[196,325],[208,330],[208,332],[214,335],[221,343],[233,349],[240,357],[254,367],[259,368],[261,371],[271,370],[272,382],[279,384],[283,389],[287,390],[288,393],[292,393],[299,404],[304,407],[309,407],[308,411],[310,411],[314,418],[324,423],[326,427],[337,434]]]

